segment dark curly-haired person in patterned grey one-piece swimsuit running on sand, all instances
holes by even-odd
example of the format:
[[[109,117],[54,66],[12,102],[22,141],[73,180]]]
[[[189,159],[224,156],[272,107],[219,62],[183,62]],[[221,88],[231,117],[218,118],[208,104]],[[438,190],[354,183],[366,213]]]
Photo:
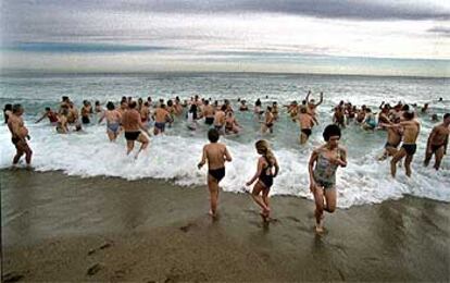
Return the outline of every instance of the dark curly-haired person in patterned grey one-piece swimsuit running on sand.
[[[324,211],[336,209],[336,171],[347,167],[347,150],[339,146],[340,128],[327,125],[323,133],[325,145],[311,153],[309,162],[310,189],[315,200],[315,231],[323,232]]]

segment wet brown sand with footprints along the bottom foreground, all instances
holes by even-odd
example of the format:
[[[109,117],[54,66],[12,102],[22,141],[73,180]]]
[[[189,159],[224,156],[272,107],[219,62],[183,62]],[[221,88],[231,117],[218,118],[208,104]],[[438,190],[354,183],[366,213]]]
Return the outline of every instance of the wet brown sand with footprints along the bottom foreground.
[[[450,205],[415,197],[338,209],[314,233],[313,202],[154,180],[0,171],[4,280],[450,281]]]

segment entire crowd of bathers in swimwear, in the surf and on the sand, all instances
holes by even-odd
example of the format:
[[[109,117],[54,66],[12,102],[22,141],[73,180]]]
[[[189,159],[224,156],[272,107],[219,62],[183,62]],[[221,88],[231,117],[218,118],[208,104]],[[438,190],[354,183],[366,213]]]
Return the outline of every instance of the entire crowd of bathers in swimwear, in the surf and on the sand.
[[[290,119],[300,126],[300,144],[308,142],[313,126],[318,124],[316,109],[323,102],[323,94],[321,93],[318,102],[310,99],[310,96],[311,93],[308,93],[301,104],[292,101],[285,106]],[[239,111],[249,111],[245,100],[239,99],[238,102],[240,103]],[[154,104],[155,108],[152,109]],[[176,97],[174,100],[165,102],[160,99],[157,103],[153,103],[150,97],[147,101],[142,101],[142,99],[134,101],[130,97],[123,97],[118,108],[110,101],[107,103],[105,110],[98,101],[96,101],[95,108],[91,107],[89,101],[84,101],[79,112],[82,116],[79,122],[78,111],[74,103],[68,97],[63,97],[58,112],[46,108],[43,115],[36,122],[38,123],[48,118],[50,123],[57,127],[58,133],[65,134],[70,132],[72,126],[74,127],[73,131],[82,131],[82,125],[89,124],[91,114],[97,113],[99,115],[98,123],[107,121],[107,134],[111,142],[114,142],[124,132],[127,153],[133,151],[135,142],[141,144],[136,153],[137,158],[139,152],[149,145],[151,120],[154,123],[153,134],[162,134],[166,125],[171,126],[177,116],[183,116],[185,108],[188,108],[187,125],[189,130],[196,130],[200,119],[204,119],[204,123],[211,126],[208,131],[210,144],[203,147],[198,168],[201,169],[208,162],[207,182],[210,190],[210,214],[215,218],[217,216],[218,183],[225,176],[225,162],[232,161],[232,156],[226,146],[217,142],[221,135],[239,133],[241,130],[228,100],[225,100],[223,104],[218,104],[217,101],[211,103],[211,99],[201,99],[195,96],[190,101],[182,102]],[[421,112],[426,113],[427,109],[428,104],[425,104]],[[339,167],[347,165],[347,149],[339,145],[339,139],[341,128],[349,125],[351,121],[354,120],[355,123],[361,124],[367,131],[386,131],[385,152],[379,159],[392,157],[390,169],[391,175],[395,177],[397,163],[405,158],[405,172],[408,176],[411,176],[411,162],[416,151],[416,139],[421,131],[417,113],[410,106],[401,102],[393,107],[383,102],[379,110],[378,123],[376,123],[376,113],[365,106],[358,109],[349,102],[341,101],[334,108],[333,123],[327,125],[323,132],[325,144],[312,151],[309,161],[310,190],[315,200],[314,214],[317,233],[323,232],[324,211],[332,213],[336,209],[336,172]],[[12,135],[12,144],[16,148],[13,164],[17,164],[21,157],[25,155],[26,163],[29,165],[33,151],[27,143],[30,137],[22,119],[23,113],[24,109],[21,104],[7,104],[4,108],[5,123]],[[264,111],[261,100],[258,99],[254,103],[253,113],[261,123],[261,132],[263,134],[267,131],[272,133],[279,115],[277,103],[273,102]],[[428,136],[425,165],[428,165],[433,155],[435,155],[434,168],[439,169],[442,157],[447,152],[449,133],[450,113],[446,113],[442,123],[436,125]],[[258,159],[257,172],[246,185],[254,184],[251,196],[255,204],[261,207],[261,216],[267,222],[271,214],[268,193],[274,177],[279,172],[279,165],[266,140],[258,140],[255,149],[261,157]]]

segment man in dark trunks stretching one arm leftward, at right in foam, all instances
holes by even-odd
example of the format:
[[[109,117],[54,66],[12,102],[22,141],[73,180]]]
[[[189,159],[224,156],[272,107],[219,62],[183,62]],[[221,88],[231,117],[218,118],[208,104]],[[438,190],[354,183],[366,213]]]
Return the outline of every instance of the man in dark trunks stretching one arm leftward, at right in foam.
[[[417,148],[416,140],[421,131],[421,124],[414,119],[414,112],[403,112],[403,118],[404,121],[398,124],[382,124],[385,127],[403,127],[403,144],[390,161],[390,174],[392,177],[396,177],[397,162],[399,162],[403,157],[407,157],[404,159],[407,176],[411,176],[411,162]]]

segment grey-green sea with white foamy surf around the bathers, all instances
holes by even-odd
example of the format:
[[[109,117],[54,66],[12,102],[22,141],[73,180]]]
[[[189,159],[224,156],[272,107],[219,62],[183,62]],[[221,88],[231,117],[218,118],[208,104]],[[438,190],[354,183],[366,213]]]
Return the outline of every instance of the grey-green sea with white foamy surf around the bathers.
[[[58,109],[62,96],[68,96],[78,110],[85,99],[92,104],[99,100],[104,106],[110,100],[117,102],[122,96],[135,99],[150,96],[155,101],[175,96],[184,100],[199,95],[213,101],[229,99],[235,110],[239,106],[238,98],[247,100],[250,110],[258,98],[264,108],[277,101],[280,118],[273,134],[260,133],[261,124],[251,111],[236,111],[242,131],[238,135],[221,137],[233,156],[233,162],[226,164],[226,176],[221,186],[226,192],[241,193],[248,189],[245,184],[257,170],[254,143],[264,138],[270,142],[280,167],[271,194],[311,199],[309,158],[313,148],[324,143],[323,128],[332,122],[333,107],[340,100],[359,107],[366,104],[375,112],[382,101],[395,104],[400,100],[418,106],[429,102],[428,114],[420,113],[422,128],[412,163],[412,177],[405,176],[402,167],[398,169],[397,177],[392,179],[389,160],[377,161],[386,143],[386,132],[366,132],[353,123],[342,131],[340,143],[348,149],[348,167],[337,172],[337,192],[338,206],[348,208],[397,199],[405,194],[450,201],[450,159],[447,156],[443,158],[439,171],[433,169],[434,160],[430,167],[423,165],[426,140],[436,125],[430,115],[436,113],[441,120],[442,114],[450,111],[449,82],[446,78],[242,73],[3,74],[0,76],[0,103],[24,106],[24,120],[32,136],[33,167],[37,171],[61,170],[83,177],[163,179],[195,187],[205,184],[207,168],[197,169],[202,147],[208,143],[208,126],[203,121],[192,132],[187,128],[185,115],[176,119],[164,135],[151,137],[149,148],[137,160],[126,156],[123,136],[116,143],[109,142],[105,125],[98,125],[97,118],[82,133],[67,135],[57,134],[47,119],[39,124],[35,121],[43,113],[45,107]],[[324,101],[317,110],[320,125],[313,128],[309,143],[300,146],[300,128],[290,121],[283,106],[293,100],[301,102],[308,90],[313,94],[311,98],[316,100],[320,91],[323,91]],[[442,102],[438,101],[439,97],[443,98]],[[10,140],[11,134],[2,124],[1,169],[11,167],[15,149]]]

